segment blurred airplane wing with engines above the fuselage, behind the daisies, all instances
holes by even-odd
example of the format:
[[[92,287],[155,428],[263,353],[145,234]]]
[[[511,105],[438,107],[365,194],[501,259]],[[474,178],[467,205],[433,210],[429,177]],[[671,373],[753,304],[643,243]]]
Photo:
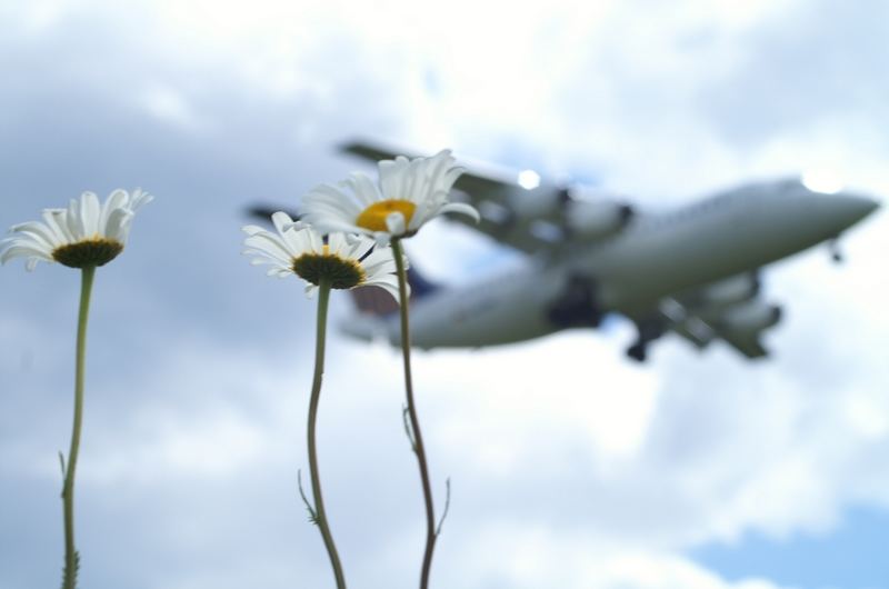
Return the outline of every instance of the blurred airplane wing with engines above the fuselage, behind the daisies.
[[[341,149],[371,161],[399,154],[416,157],[364,141]],[[559,248],[570,240],[605,238],[621,229],[632,212],[623,202],[611,199],[578,201],[567,187],[541,181],[533,172],[460,164],[465,172],[453,184],[452,198],[476,207],[481,220],[475,223],[463,216],[452,219],[527,253]]]

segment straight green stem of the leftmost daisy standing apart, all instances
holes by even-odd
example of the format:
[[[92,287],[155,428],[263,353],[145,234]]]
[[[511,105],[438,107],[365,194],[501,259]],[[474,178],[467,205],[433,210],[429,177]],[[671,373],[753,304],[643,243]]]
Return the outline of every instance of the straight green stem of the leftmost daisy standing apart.
[[[77,571],[80,567],[80,556],[74,547],[74,473],[77,472],[77,457],[80,451],[80,428],[83,421],[83,372],[87,357],[87,321],[90,315],[90,294],[92,293],[92,279],[96,267],[87,266],[82,270],[80,284],[80,312],[77,322],[77,361],[74,368],[74,423],[71,431],[71,448],[68,451],[68,463],[64,468],[64,486],[62,487],[62,503],[64,507],[64,572],[62,589],[77,587]]]

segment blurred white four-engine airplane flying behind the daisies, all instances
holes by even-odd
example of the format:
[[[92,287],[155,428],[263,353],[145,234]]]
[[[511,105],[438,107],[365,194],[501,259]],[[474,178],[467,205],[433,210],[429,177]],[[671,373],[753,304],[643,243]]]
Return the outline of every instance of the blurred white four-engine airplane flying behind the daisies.
[[[371,161],[403,153],[368,141],[341,149]],[[761,299],[761,269],[822,242],[839,261],[840,234],[879,207],[868,196],[802,177],[750,182],[649,212],[618,194],[547,182],[530,171],[466,168],[451,199],[475,206],[481,221],[452,220],[531,263],[460,288],[432,284],[412,269],[411,346],[421,349],[513,343],[596,328],[619,313],[637,327],[626,352],[640,362],[667,332],[698,349],[719,339],[762,358],[761,335],[780,321],[781,307]],[[381,289],[352,292],[357,312],[342,331],[399,346],[391,297]]]

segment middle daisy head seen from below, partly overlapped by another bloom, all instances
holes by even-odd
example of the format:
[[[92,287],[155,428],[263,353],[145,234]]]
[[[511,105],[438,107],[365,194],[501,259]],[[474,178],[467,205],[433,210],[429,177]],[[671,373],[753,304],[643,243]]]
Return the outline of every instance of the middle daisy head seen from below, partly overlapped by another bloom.
[[[253,266],[270,266],[267,274],[286,278],[297,274],[307,282],[306,293],[312,296],[321,278],[331,280],[331,288],[381,287],[398,299],[398,278],[392,250],[380,247],[363,236],[347,239],[330,233],[327,242],[311,227],[294,222],[286,212],[271,216],[277,232],[249,224],[243,251],[252,256]]]

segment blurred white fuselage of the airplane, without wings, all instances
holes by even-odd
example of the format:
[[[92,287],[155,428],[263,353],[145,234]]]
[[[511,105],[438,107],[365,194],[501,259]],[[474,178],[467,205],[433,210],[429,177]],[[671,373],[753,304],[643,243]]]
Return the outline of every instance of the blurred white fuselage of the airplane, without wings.
[[[567,241],[521,270],[432,292],[411,307],[411,342],[495,346],[573,325],[595,326],[607,312],[643,316],[665,297],[756,271],[833,239],[876,206],[865,197],[812,192],[787,180],[739,188],[670,212],[640,213],[611,237]],[[348,331],[359,335],[356,327]],[[397,318],[386,322],[386,332],[398,343]]]

